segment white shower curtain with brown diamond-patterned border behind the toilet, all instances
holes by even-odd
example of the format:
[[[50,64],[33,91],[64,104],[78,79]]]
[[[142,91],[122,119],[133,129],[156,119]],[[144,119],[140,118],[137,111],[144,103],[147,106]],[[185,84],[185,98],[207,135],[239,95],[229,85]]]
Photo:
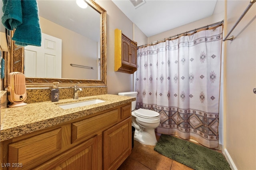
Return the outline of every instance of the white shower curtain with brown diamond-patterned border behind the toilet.
[[[222,26],[138,49],[136,109],[160,114],[157,131],[218,147]]]

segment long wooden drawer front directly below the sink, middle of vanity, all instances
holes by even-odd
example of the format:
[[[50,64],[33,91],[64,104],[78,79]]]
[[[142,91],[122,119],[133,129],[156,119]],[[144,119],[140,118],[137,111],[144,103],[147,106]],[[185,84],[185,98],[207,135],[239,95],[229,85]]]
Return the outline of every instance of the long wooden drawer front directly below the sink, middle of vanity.
[[[71,142],[94,135],[102,128],[118,122],[118,109],[94,116],[76,123],[72,123]]]

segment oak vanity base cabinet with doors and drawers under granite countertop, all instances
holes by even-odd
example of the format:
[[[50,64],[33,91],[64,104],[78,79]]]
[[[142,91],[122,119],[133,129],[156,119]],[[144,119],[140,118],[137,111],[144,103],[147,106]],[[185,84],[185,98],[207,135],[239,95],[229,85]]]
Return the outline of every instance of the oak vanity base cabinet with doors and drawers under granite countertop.
[[[117,169],[131,150],[128,103],[1,142],[0,169]]]

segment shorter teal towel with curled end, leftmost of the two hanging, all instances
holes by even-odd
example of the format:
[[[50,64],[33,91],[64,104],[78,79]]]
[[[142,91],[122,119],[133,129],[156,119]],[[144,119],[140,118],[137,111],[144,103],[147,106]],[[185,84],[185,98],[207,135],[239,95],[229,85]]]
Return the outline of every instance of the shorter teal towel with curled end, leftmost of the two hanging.
[[[8,30],[13,30],[22,24],[22,10],[20,0],[3,0],[4,15],[2,23]]]

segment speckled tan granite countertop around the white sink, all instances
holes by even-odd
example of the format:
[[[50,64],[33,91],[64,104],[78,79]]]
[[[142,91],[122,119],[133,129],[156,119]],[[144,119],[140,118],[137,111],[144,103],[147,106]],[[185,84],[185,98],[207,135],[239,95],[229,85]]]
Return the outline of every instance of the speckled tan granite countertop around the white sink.
[[[72,109],[58,107],[60,104],[91,99],[101,99],[105,102]],[[30,103],[22,107],[1,109],[0,141],[59,125],[135,100],[134,97],[105,94],[80,97],[78,100],[62,99],[58,102],[46,101]]]

